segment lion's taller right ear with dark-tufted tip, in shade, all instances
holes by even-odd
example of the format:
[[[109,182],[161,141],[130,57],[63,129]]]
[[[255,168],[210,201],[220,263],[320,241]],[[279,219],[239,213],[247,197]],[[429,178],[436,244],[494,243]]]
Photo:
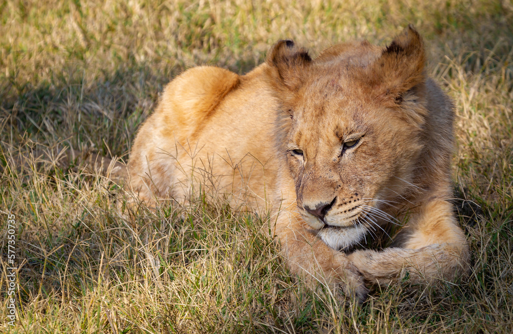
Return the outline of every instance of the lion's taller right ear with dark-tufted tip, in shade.
[[[371,86],[383,98],[401,101],[403,93],[425,82],[425,62],[422,38],[409,25],[370,67]]]

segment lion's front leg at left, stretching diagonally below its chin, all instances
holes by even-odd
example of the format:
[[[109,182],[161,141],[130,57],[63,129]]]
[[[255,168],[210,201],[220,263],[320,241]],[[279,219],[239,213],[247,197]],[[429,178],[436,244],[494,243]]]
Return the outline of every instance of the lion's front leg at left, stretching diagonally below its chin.
[[[301,218],[282,211],[275,229],[281,243],[281,253],[290,270],[311,283],[340,284],[346,294],[362,302],[367,297],[368,289],[356,268],[344,253],[328,247],[302,223]]]

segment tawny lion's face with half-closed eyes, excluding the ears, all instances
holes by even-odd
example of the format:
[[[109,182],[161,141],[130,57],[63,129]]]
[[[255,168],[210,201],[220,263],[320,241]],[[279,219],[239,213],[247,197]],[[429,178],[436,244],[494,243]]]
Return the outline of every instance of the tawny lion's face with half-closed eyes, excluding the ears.
[[[339,87],[319,99],[314,87],[293,110],[287,160],[301,215],[326,243],[343,248],[379,228],[374,222],[386,218],[380,204],[404,192],[419,129],[366,96]]]

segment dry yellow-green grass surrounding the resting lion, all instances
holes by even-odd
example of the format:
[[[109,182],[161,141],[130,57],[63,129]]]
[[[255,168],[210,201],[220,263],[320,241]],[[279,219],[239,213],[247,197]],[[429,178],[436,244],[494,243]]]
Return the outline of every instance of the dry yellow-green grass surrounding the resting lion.
[[[385,45],[408,23],[457,104],[454,203],[472,250],[459,286],[412,292],[400,282],[360,306],[311,292],[257,233],[259,218],[205,198],[129,212],[112,181],[58,155],[73,148],[126,161],[163,86],[189,67],[244,73],[283,38],[313,54],[354,38]],[[0,330],[509,334],[512,108],[508,0],[0,2]]]

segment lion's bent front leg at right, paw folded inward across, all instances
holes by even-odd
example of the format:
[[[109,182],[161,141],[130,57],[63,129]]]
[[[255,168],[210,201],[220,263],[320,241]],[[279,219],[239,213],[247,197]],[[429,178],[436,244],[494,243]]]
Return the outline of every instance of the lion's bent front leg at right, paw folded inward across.
[[[349,254],[366,281],[385,286],[407,272],[413,282],[427,283],[468,271],[468,245],[447,201],[423,204],[398,237],[399,247]]]

